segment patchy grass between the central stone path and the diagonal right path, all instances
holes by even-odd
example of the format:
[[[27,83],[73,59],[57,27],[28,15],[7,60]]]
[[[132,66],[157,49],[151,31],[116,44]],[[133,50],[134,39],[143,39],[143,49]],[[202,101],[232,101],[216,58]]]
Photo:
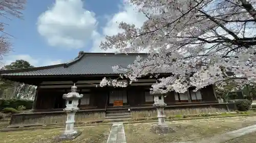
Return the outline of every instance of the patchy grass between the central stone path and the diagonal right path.
[[[166,143],[172,141],[197,141],[205,137],[240,129],[256,124],[255,117],[212,118],[200,120],[173,121],[167,124],[175,133],[158,135],[150,132],[153,123],[125,124],[126,142]],[[230,142],[233,143],[233,142]]]

